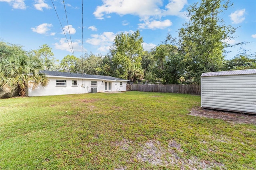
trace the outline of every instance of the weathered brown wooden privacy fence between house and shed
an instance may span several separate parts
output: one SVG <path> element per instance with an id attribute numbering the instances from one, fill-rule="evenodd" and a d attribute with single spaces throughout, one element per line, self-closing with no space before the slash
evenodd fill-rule
<path id="1" fill-rule="evenodd" d="M 200 95 L 200 85 L 127 85 L 127 90 L 130 91 L 147 91 L 147 92 L 160 92 L 160 93 L 183 93 Z"/>

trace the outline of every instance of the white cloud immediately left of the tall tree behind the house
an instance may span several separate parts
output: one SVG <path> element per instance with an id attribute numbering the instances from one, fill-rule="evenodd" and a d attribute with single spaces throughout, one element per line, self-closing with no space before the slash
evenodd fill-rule
<path id="1" fill-rule="evenodd" d="M 108 49 L 112 45 L 113 40 L 116 37 L 116 34 L 114 34 L 113 32 L 104 32 L 102 34 L 92 34 L 91 37 L 92 38 L 89 38 L 86 40 L 86 43 L 89 43 L 95 46 L 100 45 L 98 50 L 105 52 L 105 51 L 108 51 Z"/>

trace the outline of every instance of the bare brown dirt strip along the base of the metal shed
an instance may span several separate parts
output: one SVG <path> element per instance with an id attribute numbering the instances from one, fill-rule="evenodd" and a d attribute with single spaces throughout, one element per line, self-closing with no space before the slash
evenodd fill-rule
<path id="1" fill-rule="evenodd" d="M 194 108 L 191 109 L 191 116 L 207 117 L 212 119 L 222 119 L 231 123 L 246 123 L 256 125 L 256 115 L 244 113 L 224 112 L 210 109 Z"/>

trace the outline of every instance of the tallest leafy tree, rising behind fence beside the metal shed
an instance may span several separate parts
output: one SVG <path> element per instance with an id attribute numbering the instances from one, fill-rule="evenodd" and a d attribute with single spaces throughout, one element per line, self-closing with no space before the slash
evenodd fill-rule
<path id="1" fill-rule="evenodd" d="M 179 30 L 182 62 L 191 83 L 200 83 L 202 72 L 220 71 L 224 61 L 225 40 L 232 39 L 235 28 L 226 26 L 220 14 L 229 1 L 202 0 L 188 8 L 189 22 Z"/>

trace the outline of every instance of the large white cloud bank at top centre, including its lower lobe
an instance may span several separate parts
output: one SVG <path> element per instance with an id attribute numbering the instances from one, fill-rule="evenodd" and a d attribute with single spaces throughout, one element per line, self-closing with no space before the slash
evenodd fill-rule
<path id="1" fill-rule="evenodd" d="M 188 4 L 187 0 L 169 0 L 163 8 L 162 0 L 104 0 L 102 6 L 97 6 L 94 16 L 98 19 L 108 17 L 108 14 L 116 13 L 120 16 L 130 14 L 140 17 L 139 28 L 164 29 L 172 25 L 170 20 L 161 21 L 162 16 L 179 16 L 186 18 L 186 12 L 182 11 Z M 124 26 L 128 22 L 123 21 Z"/>

